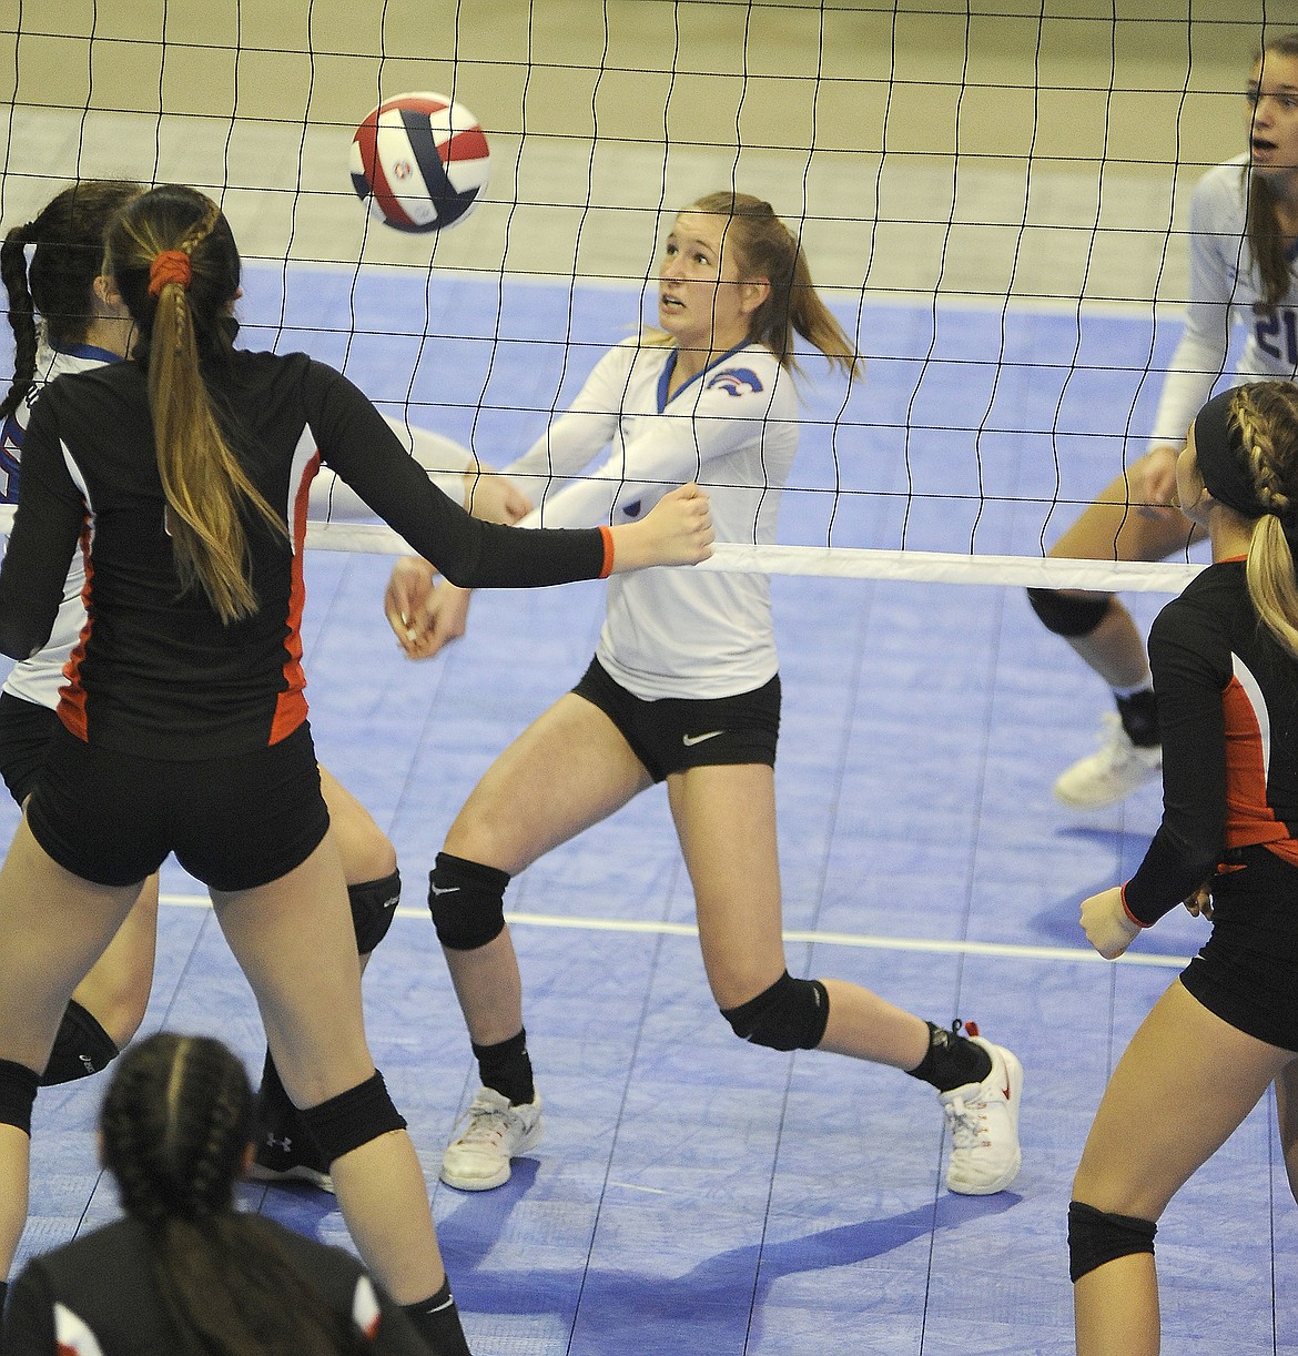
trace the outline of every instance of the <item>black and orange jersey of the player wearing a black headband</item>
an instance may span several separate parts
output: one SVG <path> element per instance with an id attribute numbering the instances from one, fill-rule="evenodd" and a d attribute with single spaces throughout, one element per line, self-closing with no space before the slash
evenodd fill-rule
<path id="1" fill-rule="evenodd" d="M 1298 660 L 1257 620 L 1242 560 L 1210 565 L 1149 635 L 1162 730 L 1162 823 L 1123 887 L 1152 923 L 1233 848 L 1298 866 Z"/>

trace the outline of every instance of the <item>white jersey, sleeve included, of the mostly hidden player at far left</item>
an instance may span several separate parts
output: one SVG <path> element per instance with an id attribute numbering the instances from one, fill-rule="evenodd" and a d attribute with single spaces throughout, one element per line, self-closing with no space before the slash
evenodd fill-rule
<path id="1" fill-rule="evenodd" d="M 121 358 L 107 348 L 92 344 L 76 344 L 65 351 L 41 346 L 37 354 L 35 385 L 18 410 L 0 427 L 0 503 L 18 503 L 19 464 L 22 461 L 23 434 L 31 416 L 33 401 L 41 386 L 71 372 L 88 372 L 106 362 L 119 362 Z M 450 438 L 415 428 L 399 419 L 388 419 L 388 424 L 401 439 L 429 473 L 429 479 L 456 503 L 464 502 L 464 472 L 476 465 L 472 453 Z M 328 468 L 312 480 L 307 509 L 308 517 L 330 522 L 377 522 L 373 510 L 361 496 Z M 85 565 L 81 552 L 75 552 L 64 598 L 58 606 L 54 629 L 49 644 L 30 659 L 16 663 L 4 682 L 4 690 L 23 701 L 38 706 L 58 706 L 58 690 L 64 686 L 64 664 L 72 656 L 72 650 L 85 625 Z"/>

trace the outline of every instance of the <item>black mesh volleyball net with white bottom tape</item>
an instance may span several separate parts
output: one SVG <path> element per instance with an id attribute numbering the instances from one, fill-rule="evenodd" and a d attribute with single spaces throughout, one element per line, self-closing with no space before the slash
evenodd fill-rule
<path id="1" fill-rule="evenodd" d="M 1145 450 L 1189 191 L 1242 149 L 1248 62 L 1276 22 L 1265 0 L 1189 14 L 16 0 L 0 226 L 77 178 L 193 183 L 244 254 L 251 346 L 332 362 L 502 465 L 640 323 L 675 210 L 751 193 L 799 235 L 865 378 L 799 354 L 781 542 L 709 568 L 1169 591 L 1185 560 L 1043 557 Z M 349 178 L 358 123 L 412 89 L 471 108 L 491 148 L 473 213 L 433 235 L 376 221 Z M 309 542 L 404 549 L 355 523 Z"/>

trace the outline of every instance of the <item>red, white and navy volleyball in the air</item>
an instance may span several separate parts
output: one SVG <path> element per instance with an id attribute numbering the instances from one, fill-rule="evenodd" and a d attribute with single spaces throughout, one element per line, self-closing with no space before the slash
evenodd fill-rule
<path id="1" fill-rule="evenodd" d="M 444 231 L 487 187 L 491 152 L 477 119 L 442 94 L 384 99 L 351 138 L 351 183 L 396 231 Z"/>

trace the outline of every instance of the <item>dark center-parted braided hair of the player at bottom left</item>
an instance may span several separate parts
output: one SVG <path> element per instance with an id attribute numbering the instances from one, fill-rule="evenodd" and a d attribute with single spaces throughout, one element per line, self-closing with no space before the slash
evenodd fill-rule
<path id="1" fill-rule="evenodd" d="M 254 1134 L 243 1064 L 218 1040 L 160 1032 L 121 1056 L 99 1130 L 123 1211 L 148 1239 L 152 1279 L 186 1351 L 354 1356 L 365 1351 L 274 1229 L 235 1210 Z"/>

